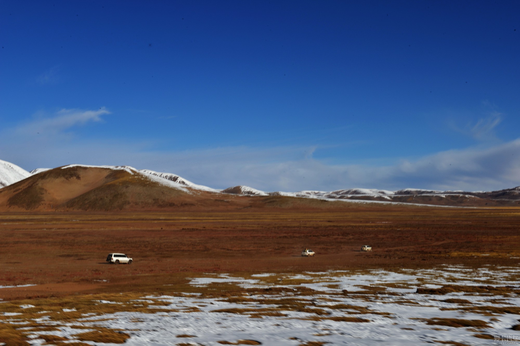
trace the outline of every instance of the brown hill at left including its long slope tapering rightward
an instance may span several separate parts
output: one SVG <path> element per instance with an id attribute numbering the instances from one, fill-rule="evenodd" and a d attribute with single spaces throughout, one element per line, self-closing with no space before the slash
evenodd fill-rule
<path id="1" fill-rule="evenodd" d="M 350 208 L 352 203 L 243 196 L 168 185 L 130 167 L 58 167 L 0 189 L 0 211 Z M 175 183 L 173 183 L 175 184 Z M 177 188 L 176 188 L 177 187 Z"/>

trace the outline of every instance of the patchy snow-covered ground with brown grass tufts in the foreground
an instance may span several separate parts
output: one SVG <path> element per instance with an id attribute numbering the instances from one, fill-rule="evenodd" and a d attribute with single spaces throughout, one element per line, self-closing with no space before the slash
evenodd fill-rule
<path id="1" fill-rule="evenodd" d="M 297 275 L 258 273 L 247 277 L 206 274 L 193 277 L 190 285 L 199 289 L 206 287 L 210 294 L 150 295 L 133 300 L 134 304 L 161 302 L 163 305 L 157 307 L 161 311 L 157 313 L 83 314 L 68 322 L 54 321 L 45 312 L 40 313 L 36 319 L 26 322 L 55 325 L 59 330 L 29 332 L 30 343 L 45 344 L 40 337 L 45 333 L 72 341 L 74 334 L 100 327 L 129 335 L 127 345 L 156 346 L 442 345 L 456 342 L 491 345 L 495 343 L 493 336 L 505 342 L 520 340 L 520 331 L 511 329 L 519 324 L 520 318 L 520 268 L 517 267 L 443 266 L 428 270 Z M 212 296 L 211 291 L 222 285 L 238 287 L 241 294 Z M 447 285 L 457 289 L 446 294 L 417 291 Z M 472 291 L 473 288 L 476 291 Z M 119 302 L 98 300 L 96 304 Z M 11 313 L 8 321 L 20 323 L 20 317 Z M 453 318 L 456 320 L 447 320 Z M 79 331 L 77 326 L 87 329 Z"/>

